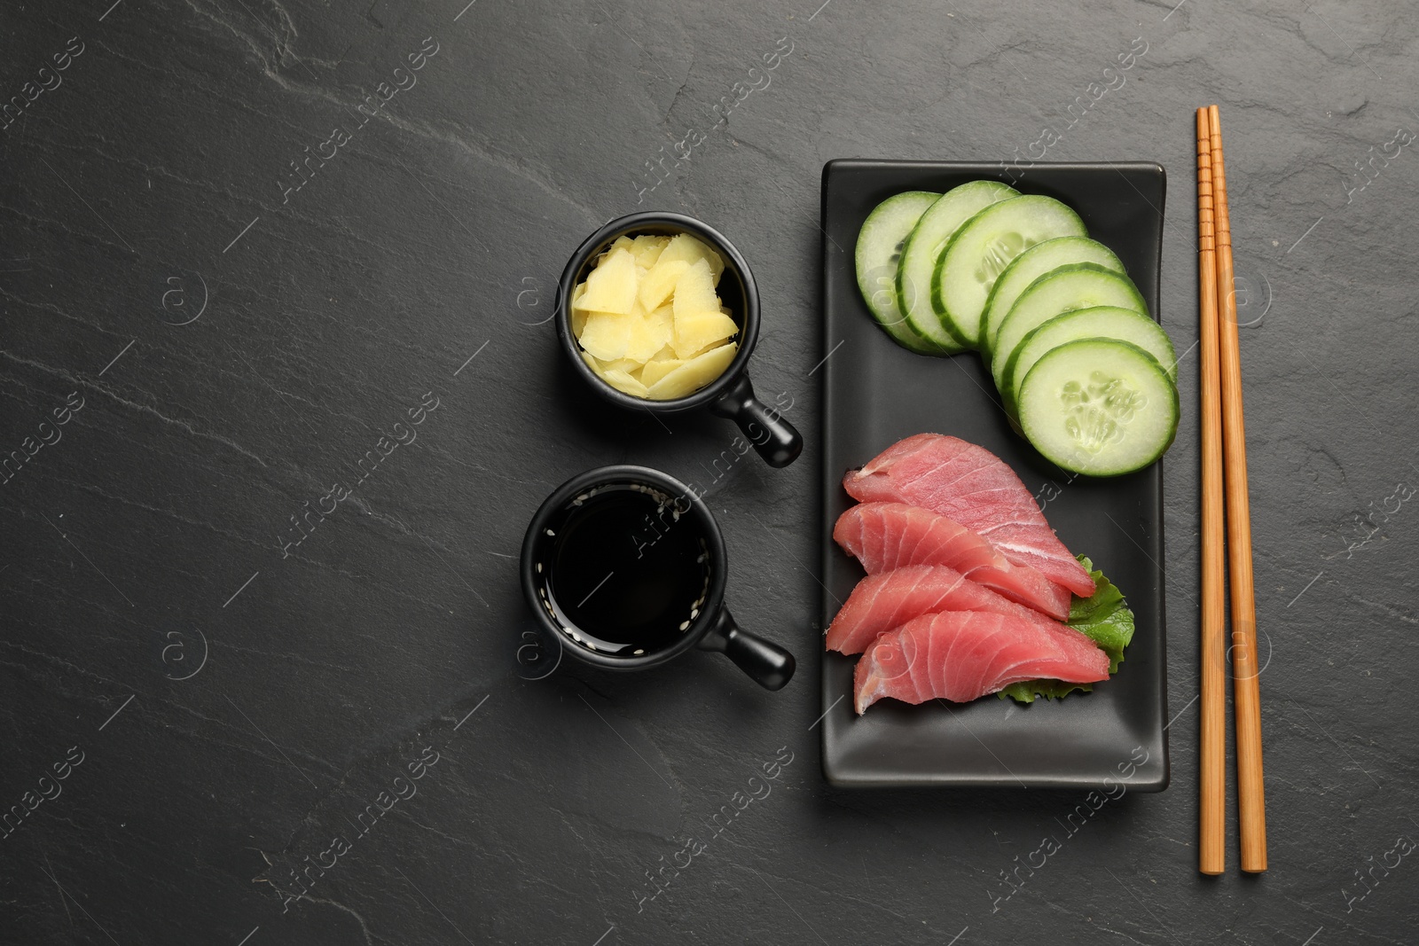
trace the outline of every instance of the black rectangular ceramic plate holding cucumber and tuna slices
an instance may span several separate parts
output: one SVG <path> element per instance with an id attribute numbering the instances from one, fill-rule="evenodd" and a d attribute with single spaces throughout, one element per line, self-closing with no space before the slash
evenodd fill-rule
<path id="1" fill-rule="evenodd" d="M 1161 166 L 1034 165 L 1019 180 L 1005 170 L 1000 163 L 856 159 L 823 167 L 823 627 L 863 577 L 833 543 L 833 523 L 851 502 L 843 474 L 902 437 L 929 431 L 981 444 L 1037 496 L 1049 498 L 1054 484 L 1059 495 L 1047 501 L 1046 518 L 1071 552 L 1088 555 L 1124 591 L 1137 631 L 1118 674 L 1093 694 L 1029 706 L 996 696 L 920 706 L 887 699 L 857 716 L 857 657 L 824 654 L 823 774 L 836 786 L 1032 789 L 1103 786 L 1127 774 L 1130 789 L 1161 791 L 1168 787 L 1162 465 L 1067 482 L 1010 431 L 976 355 L 912 355 L 877 328 L 857 289 L 853 250 L 873 207 L 904 190 L 945 193 L 988 177 L 1073 207 L 1088 234 L 1118 254 L 1158 318 Z"/>

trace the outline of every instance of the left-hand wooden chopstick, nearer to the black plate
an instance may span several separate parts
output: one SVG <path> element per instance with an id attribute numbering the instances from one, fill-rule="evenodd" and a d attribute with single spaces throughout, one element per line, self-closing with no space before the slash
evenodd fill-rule
<path id="1" fill-rule="evenodd" d="M 1218 272 L 1212 230 L 1212 130 L 1198 109 L 1198 347 L 1202 407 L 1202 745 L 1198 869 L 1226 867 L 1226 549 L 1222 505 L 1222 380 Z"/>

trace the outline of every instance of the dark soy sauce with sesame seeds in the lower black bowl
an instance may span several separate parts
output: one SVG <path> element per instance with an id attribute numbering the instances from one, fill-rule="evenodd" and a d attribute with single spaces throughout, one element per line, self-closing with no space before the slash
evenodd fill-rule
<path id="1" fill-rule="evenodd" d="M 710 587 L 710 552 L 685 498 L 600 486 L 549 526 L 552 607 L 583 647 L 639 657 L 671 647 Z"/>

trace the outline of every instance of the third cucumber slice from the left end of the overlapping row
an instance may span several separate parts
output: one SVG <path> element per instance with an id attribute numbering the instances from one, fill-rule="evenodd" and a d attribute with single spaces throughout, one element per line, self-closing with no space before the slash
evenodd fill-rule
<path id="1" fill-rule="evenodd" d="M 1053 197 L 1029 194 L 990 204 L 956 231 L 937 264 L 931 292 L 945 312 L 942 325 L 978 347 L 981 313 L 1000 272 L 1037 243 L 1087 235 L 1078 214 Z"/>

